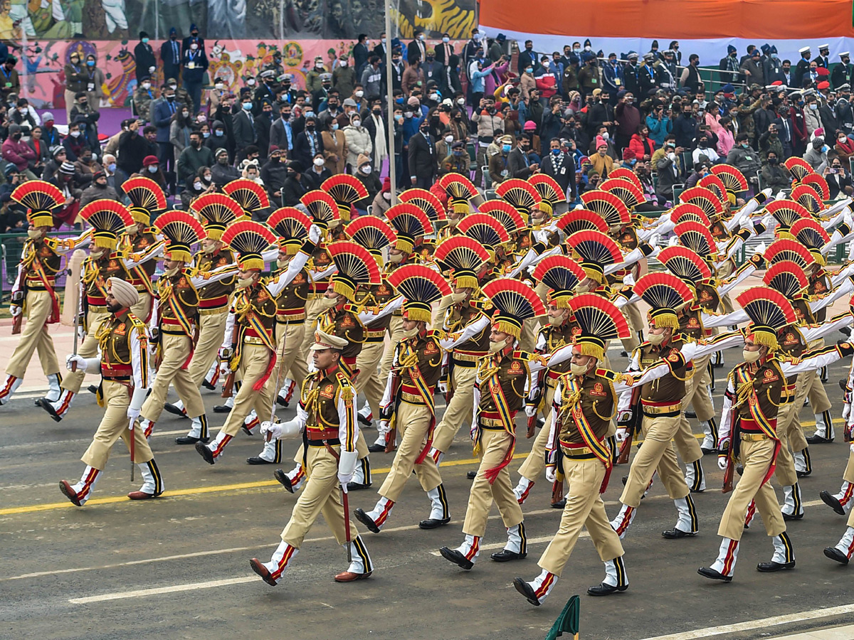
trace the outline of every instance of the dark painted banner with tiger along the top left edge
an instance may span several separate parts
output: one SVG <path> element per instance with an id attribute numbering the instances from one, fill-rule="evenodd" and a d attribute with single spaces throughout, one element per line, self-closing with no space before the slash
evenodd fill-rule
<path id="1" fill-rule="evenodd" d="M 476 0 L 394 0 L 393 36 L 412 38 L 415 29 L 438 38 L 468 38 L 476 26 Z M 0 39 L 134 41 L 140 31 L 152 40 L 189 35 L 195 24 L 203 38 L 355 39 L 377 38 L 385 29 L 384 0 L 0 0 Z"/>

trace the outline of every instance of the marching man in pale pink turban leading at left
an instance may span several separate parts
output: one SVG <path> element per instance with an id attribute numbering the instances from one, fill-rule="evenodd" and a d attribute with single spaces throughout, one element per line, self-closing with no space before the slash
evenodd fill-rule
<path id="1" fill-rule="evenodd" d="M 85 358 L 75 354 L 67 358 L 69 370 L 73 366 L 83 372 L 100 369 L 103 399 L 99 404 L 107 408 L 92 444 L 80 458 L 86 468 L 79 482 L 72 485 L 61 480 L 59 483 L 60 491 L 78 507 L 91 497 L 118 439 L 122 439 L 132 452 L 132 463 L 138 465 L 143 475 L 143 486 L 139 491 L 128 493 L 127 497 L 146 500 L 163 492 L 160 469 L 137 423 L 140 407 L 149 392 L 148 330 L 130 311 L 139 301 L 139 293 L 132 284 L 115 277 L 108 280 L 107 287 L 110 315 L 93 328 L 99 355 Z"/>

